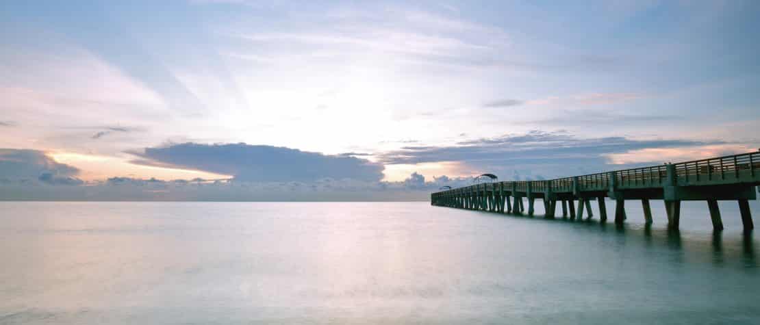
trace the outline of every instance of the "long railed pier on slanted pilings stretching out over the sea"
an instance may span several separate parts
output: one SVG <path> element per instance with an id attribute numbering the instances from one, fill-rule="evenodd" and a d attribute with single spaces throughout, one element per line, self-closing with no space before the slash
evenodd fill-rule
<path id="1" fill-rule="evenodd" d="M 559 205 L 563 217 L 578 220 L 584 219 L 584 213 L 587 219 L 593 216 L 591 202 L 596 201 L 600 221 L 606 222 L 604 199 L 609 197 L 615 204 L 616 224 L 625 220 L 625 201 L 637 200 L 648 225 L 652 223 L 650 201 L 663 200 L 670 229 L 679 228 L 681 201 L 704 200 L 717 231 L 723 230 L 717 201 L 735 200 L 744 230 L 750 231 L 754 225 L 749 200 L 757 198 L 757 185 L 760 152 L 753 152 L 543 181 L 492 181 L 435 192 L 430 200 L 439 207 L 533 216 L 540 199 L 546 218 L 555 218 Z"/>

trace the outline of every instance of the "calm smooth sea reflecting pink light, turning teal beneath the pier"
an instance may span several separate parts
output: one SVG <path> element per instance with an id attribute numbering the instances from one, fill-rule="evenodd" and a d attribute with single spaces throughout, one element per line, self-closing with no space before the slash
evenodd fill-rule
<path id="1" fill-rule="evenodd" d="M 0 324 L 760 323 L 736 203 L 722 235 L 704 202 L 679 233 L 652 204 L 651 229 L 633 201 L 618 229 L 426 202 L 0 202 Z"/>

